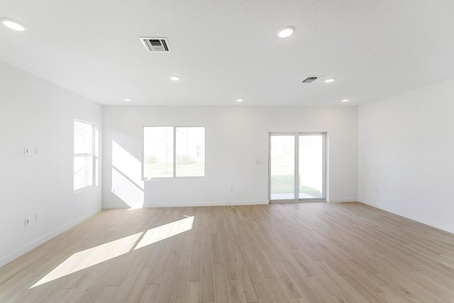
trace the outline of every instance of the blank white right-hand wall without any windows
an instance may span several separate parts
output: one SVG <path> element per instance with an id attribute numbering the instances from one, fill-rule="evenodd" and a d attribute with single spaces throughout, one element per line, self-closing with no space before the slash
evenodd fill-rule
<path id="1" fill-rule="evenodd" d="M 454 233 L 454 79 L 359 108 L 358 198 Z"/>

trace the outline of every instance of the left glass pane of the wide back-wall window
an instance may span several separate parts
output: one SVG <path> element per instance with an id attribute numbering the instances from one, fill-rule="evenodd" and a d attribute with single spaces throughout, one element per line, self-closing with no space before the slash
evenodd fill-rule
<path id="1" fill-rule="evenodd" d="M 143 128 L 143 177 L 173 177 L 173 127 Z"/>

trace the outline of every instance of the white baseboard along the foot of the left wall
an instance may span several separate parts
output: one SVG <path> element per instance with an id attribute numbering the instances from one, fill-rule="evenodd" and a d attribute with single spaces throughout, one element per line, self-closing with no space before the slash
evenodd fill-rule
<path id="1" fill-rule="evenodd" d="M 77 217 L 76 219 L 70 221 L 69 223 L 67 223 L 63 226 L 60 226 L 59 228 L 55 229 L 54 231 L 51 231 L 50 233 L 45 234 L 44 236 L 36 239 L 35 241 L 28 243 L 26 246 L 23 246 L 23 247 L 19 248 L 18 250 L 13 251 L 9 255 L 6 255 L 4 258 L 0 259 L 0 267 L 3 265 L 6 265 L 7 263 L 10 263 L 12 260 L 20 257 L 24 253 L 28 253 L 28 251 L 40 246 L 45 241 L 48 241 L 51 238 L 54 238 L 55 236 L 59 235 L 63 231 L 66 231 L 67 229 L 71 228 L 72 226 L 79 224 L 80 222 L 89 218 L 89 216 L 93 216 L 98 211 L 101 211 L 101 209 L 102 208 L 93 209 L 92 211 L 89 211 L 86 214 L 83 214 L 82 216 Z"/>

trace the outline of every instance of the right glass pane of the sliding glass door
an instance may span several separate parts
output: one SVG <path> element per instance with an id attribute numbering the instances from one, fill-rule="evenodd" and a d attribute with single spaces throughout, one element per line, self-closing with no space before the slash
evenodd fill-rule
<path id="1" fill-rule="evenodd" d="M 299 199 L 323 197 L 323 136 L 299 136 Z"/>

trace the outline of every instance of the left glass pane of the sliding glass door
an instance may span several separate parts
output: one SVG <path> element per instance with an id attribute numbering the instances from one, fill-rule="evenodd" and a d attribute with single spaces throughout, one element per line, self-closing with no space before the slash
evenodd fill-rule
<path id="1" fill-rule="evenodd" d="M 271 199 L 295 199 L 295 136 L 271 136 Z"/>

